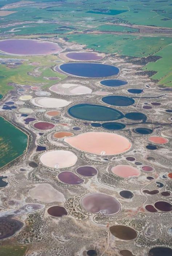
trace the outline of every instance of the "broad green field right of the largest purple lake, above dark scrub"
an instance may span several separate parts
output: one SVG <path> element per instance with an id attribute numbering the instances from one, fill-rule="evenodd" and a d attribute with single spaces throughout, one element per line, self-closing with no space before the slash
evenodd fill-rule
<path id="1" fill-rule="evenodd" d="M 131 35 L 113 34 L 71 34 L 67 35 L 71 42 L 87 45 L 86 48 L 105 53 L 118 53 L 120 55 L 147 57 L 154 54 L 168 44 L 171 37 L 136 37 Z"/>

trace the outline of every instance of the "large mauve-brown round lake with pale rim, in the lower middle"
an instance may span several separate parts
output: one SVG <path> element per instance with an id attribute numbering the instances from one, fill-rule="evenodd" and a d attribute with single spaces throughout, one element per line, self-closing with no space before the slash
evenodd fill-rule
<path id="1" fill-rule="evenodd" d="M 103 193 L 89 193 L 81 198 L 81 205 L 93 214 L 114 215 L 121 210 L 116 198 Z"/>

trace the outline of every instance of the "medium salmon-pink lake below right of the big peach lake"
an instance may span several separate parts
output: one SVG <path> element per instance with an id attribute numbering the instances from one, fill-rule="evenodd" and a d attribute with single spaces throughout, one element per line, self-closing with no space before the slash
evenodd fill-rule
<path id="1" fill-rule="evenodd" d="M 126 165 L 126 164 L 119 164 L 119 165 L 113 166 L 111 168 L 111 171 L 114 174 L 116 174 L 120 177 L 123 177 L 123 178 L 140 175 L 140 171 L 138 170 L 138 168 L 133 167 L 131 165 Z"/>

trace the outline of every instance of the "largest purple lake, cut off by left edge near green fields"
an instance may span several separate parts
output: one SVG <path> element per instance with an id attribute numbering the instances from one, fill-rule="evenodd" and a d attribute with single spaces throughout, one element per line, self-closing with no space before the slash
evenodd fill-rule
<path id="1" fill-rule="evenodd" d="M 48 55 L 61 51 L 61 47 L 54 43 L 32 39 L 0 40 L 0 51 L 17 55 Z"/>

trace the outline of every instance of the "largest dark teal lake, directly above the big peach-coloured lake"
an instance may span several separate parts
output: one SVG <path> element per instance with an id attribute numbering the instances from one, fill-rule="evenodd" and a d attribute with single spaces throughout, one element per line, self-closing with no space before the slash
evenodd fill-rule
<path id="1" fill-rule="evenodd" d="M 111 107 L 93 104 L 78 104 L 70 107 L 68 113 L 75 118 L 87 121 L 114 121 L 124 117 L 124 114 Z"/>

